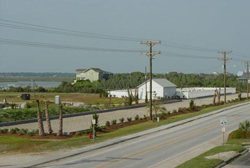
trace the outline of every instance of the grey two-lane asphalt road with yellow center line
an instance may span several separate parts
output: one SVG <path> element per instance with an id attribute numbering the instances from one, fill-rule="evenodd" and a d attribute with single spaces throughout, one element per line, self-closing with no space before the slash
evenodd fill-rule
<path id="1" fill-rule="evenodd" d="M 221 117 L 227 117 L 226 132 L 238 128 L 239 122 L 250 120 L 250 105 L 224 111 L 168 130 L 150 134 L 108 148 L 84 153 L 39 167 L 60 168 L 151 168 L 175 167 L 178 158 L 195 157 L 195 148 L 217 139 L 222 142 Z M 220 142 L 220 143 L 221 143 Z M 178 165 L 177 164 L 177 165 Z"/>

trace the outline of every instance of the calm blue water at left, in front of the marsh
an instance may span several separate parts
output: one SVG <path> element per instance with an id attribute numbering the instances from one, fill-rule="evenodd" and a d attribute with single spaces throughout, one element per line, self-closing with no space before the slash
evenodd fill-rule
<path id="1" fill-rule="evenodd" d="M 36 87 L 38 86 L 42 86 L 42 87 L 45 87 L 45 88 L 48 88 L 48 87 L 57 87 L 61 84 L 61 82 L 39 82 L 39 81 L 36 81 L 35 82 L 35 85 Z M 0 82 L 0 88 L 3 88 L 3 89 L 8 89 L 10 86 L 13 86 L 13 87 L 26 87 L 26 86 L 30 86 L 31 88 L 33 88 L 34 86 L 34 83 L 32 81 L 18 81 L 18 82 Z"/>

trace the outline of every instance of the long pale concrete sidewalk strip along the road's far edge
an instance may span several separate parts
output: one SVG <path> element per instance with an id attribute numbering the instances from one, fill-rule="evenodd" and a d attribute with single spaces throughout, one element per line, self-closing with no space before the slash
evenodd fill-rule
<path id="1" fill-rule="evenodd" d="M 119 143 L 122 143 L 122 142 L 125 142 L 125 141 L 128 141 L 128 140 L 139 138 L 139 137 L 142 137 L 142 136 L 145 136 L 145 135 L 149 135 L 149 134 L 152 134 L 152 133 L 156 133 L 156 132 L 167 130 L 167 129 L 170 129 L 170 128 L 173 128 L 173 127 L 177 127 L 179 125 L 183 125 L 183 124 L 186 124 L 186 123 L 198 120 L 198 119 L 202 119 L 202 118 L 205 118 L 205 117 L 208 117 L 208 116 L 211 116 L 211 115 L 222 113 L 222 112 L 224 112 L 226 110 L 234 109 L 234 108 L 249 105 L 249 104 L 250 103 L 247 102 L 247 103 L 243 103 L 243 104 L 234 105 L 234 106 L 231 106 L 231 107 L 226 107 L 226 108 L 223 108 L 223 109 L 220 109 L 220 110 L 216 110 L 214 112 L 210 112 L 208 114 L 202 114 L 200 116 L 196 116 L 196 117 L 193 117 L 193 118 L 189 118 L 189 119 L 174 122 L 174 123 L 171 123 L 171 124 L 163 125 L 163 126 L 160 126 L 160 127 L 150 129 L 150 130 L 143 131 L 143 132 L 139 132 L 139 133 L 123 136 L 123 137 L 118 137 L 118 138 L 107 140 L 107 141 L 100 142 L 100 143 L 97 143 L 97 144 L 89 145 L 89 146 L 86 146 L 86 147 L 83 147 L 83 148 L 80 148 L 80 149 L 77 149 L 77 150 L 73 150 L 73 151 L 70 151 L 70 152 L 65 152 L 63 154 L 60 154 L 60 155 L 57 155 L 57 156 L 54 156 L 54 157 L 48 157 L 48 158 L 46 157 L 46 158 L 40 159 L 38 161 L 34 161 L 34 162 L 31 162 L 31 163 L 26 163 L 26 164 L 20 165 L 20 167 L 29 168 L 29 167 L 38 166 L 38 165 L 41 165 L 41 164 L 57 161 L 57 160 L 60 160 L 60 159 L 65 159 L 65 158 L 68 158 L 68 157 L 76 156 L 76 155 L 83 154 L 83 153 L 86 153 L 86 152 L 89 152 L 89 151 L 105 148 L 105 147 L 112 146 L 112 145 L 115 145 L 115 144 L 119 144 Z"/>

